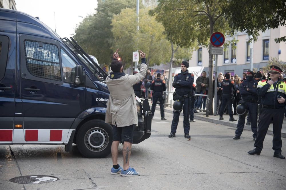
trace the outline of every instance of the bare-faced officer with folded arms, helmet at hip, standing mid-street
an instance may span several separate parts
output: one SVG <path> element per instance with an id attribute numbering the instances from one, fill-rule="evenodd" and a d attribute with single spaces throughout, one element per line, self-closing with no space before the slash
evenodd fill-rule
<path id="1" fill-rule="evenodd" d="M 180 101 L 183 103 L 184 113 L 184 137 L 191 138 L 189 135 L 190 121 L 189 121 L 189 106 L 190 106 L 190 91 L 194 82 L 194 75 L 188 72 L 189 64 L 186 61 L 181 63 L 181 72 L 174 77 L 173 87 L 176 88 L 175 97 L 181 97 Z M 175 100 L 176 101 L 176 100 Z M 174 110 L 173 110 L 174 111 Z M 174 111 L 172 120 L 171 133 L 169 137 L 176 136 L 176 130 L 179 122 L 180 111 Z"/>

